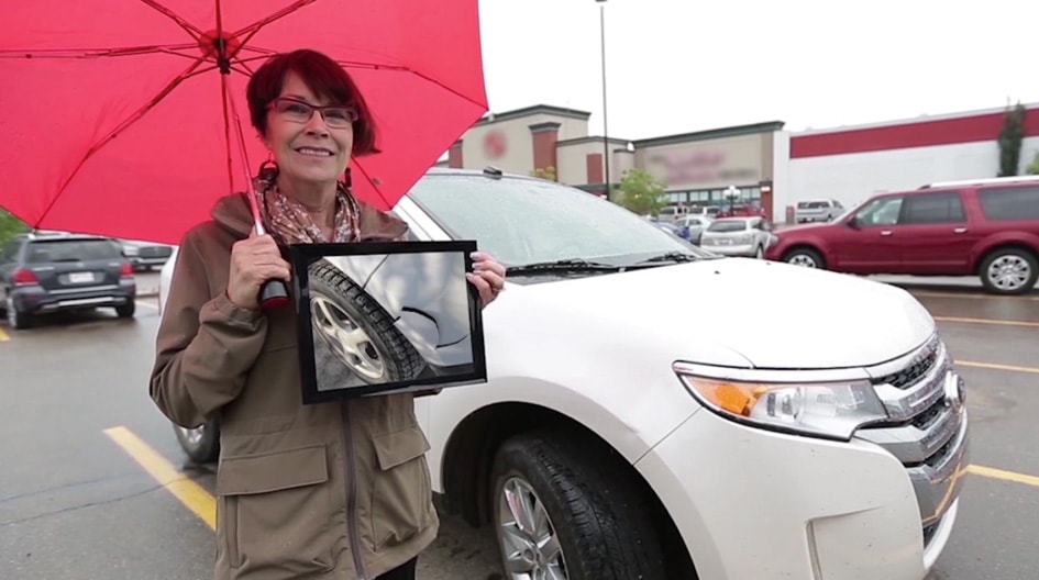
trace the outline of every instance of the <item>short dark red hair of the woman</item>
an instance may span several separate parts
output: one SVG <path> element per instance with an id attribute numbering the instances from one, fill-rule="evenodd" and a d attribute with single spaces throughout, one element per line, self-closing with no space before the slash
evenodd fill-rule
<path id="1" fill-rule="evenodd" d="M 289 71 L 299 75 L 318 97 L 357 110 L 357 120 L 354 121 L 354 146 L 351 152 L 353 155 L 378 153 L 372 111 L 364 102 L 354 80 L 339 63 L 309 48 L 270 57 L 248 79 L 245 98 L 248 100 L 253 126 L 261 135 L 267 134 L 267 105 L 281 94 L 281 86 Z"/>

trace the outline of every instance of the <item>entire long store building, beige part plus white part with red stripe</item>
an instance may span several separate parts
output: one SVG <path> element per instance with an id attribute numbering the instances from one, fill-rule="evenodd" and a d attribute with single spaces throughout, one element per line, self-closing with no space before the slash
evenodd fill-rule
<path id="1" fill-rule="evenodd" d="M 783 222 L 800 200 L 837 199 L 848 207 L 878 191 L 995 177 L 1004 114 L 1001 108 L 796 133 L 771 121 L 604 143 L 588 134 L 590 113 L 538 104 L 485 115 L 441 165 L 553 171 L 563 183 L 603 196 L 608 148 L 610 183 L 639 168 L 664 185 L 672 203 L 734 199 L 760 203 Z M 1039 103 L 1027 105 L 1025 134 L 1021 172 L 1039 152 Z"/>

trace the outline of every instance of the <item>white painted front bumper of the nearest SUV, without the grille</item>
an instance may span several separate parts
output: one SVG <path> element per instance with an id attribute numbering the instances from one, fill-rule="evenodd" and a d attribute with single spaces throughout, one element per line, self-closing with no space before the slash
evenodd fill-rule
<path id="1" fill-rule="evenodd" d="M 922 580 L 957 516 L 925 533 L 905 467 L 862 440 L 738 425 L 701 411 L 638 462 L 700 578 Z"/>

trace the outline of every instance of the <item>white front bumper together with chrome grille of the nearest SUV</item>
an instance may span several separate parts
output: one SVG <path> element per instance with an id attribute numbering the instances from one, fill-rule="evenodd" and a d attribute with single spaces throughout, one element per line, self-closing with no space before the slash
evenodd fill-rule
<path id="1" fill-rule="evenodd" d="M 969 461 L 962 381 L 940 341 L 867 369 L 889 424 L 850 442 L 695 413 L 637 466 L 700 578 L 922 580 Z"/>

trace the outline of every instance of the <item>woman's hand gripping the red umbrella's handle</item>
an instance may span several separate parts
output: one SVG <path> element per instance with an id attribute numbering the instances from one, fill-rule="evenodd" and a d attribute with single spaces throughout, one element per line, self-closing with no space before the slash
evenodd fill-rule
<path id="1" fill-rule="evenodd" d="M 239 308 L 259 310 L 259 289 L 264 282 L 277 278 L 288 283 L 290 271 L 274 238 L 253 232 L 231 246 L 228 298 Z"/>

